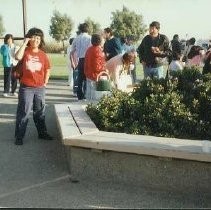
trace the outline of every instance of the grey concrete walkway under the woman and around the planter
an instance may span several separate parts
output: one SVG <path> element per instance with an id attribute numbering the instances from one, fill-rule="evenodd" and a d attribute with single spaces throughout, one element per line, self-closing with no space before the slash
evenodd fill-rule
<path id="1" fill-rule="evenodd" d="M 0 80 L 0 90 L 3 81 Z M 69 180 L 53 104 L 76 102 L 64 81 L 50 81 L 46 121 L 54 141 L 37 138 L 30 118 L 23 146 L 14 145 L 17 98 L 0 96 L 0 208 L 209 208 L 204 192 L 154 191 L 118 183 Z"/>

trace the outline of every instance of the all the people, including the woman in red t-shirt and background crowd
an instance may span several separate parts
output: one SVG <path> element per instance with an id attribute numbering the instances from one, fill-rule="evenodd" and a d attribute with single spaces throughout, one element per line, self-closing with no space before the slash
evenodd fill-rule
<path id="1" fill-rule="evenodd" d="M 99 75 L 105 73 L 113 86 L 121 89 L 123 76 L 130 76 L 136 82 L 136 57 L 143 65 L 144 78 L 164 77 L 164 65 L 168 59 L 170 71 L 182 70 L 184 65 L 199 65 L 204 61 L 203 73 L 211 72 L 211 48 L 206 53 L 195 46 L 195 39 L 182 52 L 179 37 L 171 43 L 160 34 L 160 23 L 153 21 L 146 35 L 136 49 L 130 36 L 121 40 L 113 35 L 111 28 L 103 33 L 89 35 L 88 25 L 80 24 L 76 38 L 70 39 L 68 47 L 69 82 L 78 100 L 94 99 Z M 44 34 L 39 28 L 31 28 L 23 44 L 14 45 L 13 36 L 7 34 L 1 46 L 4 66 L 4 93 L 16 95 L 17 78 L 12 76 L 13 68 L 21 63 L 21 78 L 16 113 L 15 144 L 22 145 L 31 109 L 38 131 L 38 138 L 53 140 L 45 123 L 45 88 L 50 76 L 50 61 L 44 52 Z M 198 57 L 197 57 L 198 56 Z"/>

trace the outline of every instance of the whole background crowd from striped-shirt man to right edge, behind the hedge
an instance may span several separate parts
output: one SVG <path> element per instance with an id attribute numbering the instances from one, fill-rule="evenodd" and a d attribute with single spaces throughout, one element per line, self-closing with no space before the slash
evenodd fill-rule
<path id="1" fill-rule="evenodd" d="M 117 89 L 124 89 L 122 84 L 126 83 L 125 78 L 128 76 L 131 84 L 136 83 L 137 56 L 143 66 L 144 78 L 165 77 L 166 65 L 170 74 L 173 74 L 185 66 L 210 63 L 208 60 L 211 55 L 208 53 L 205 56 L 203 48 L 195 45 L 195 38 L 188 40 L 183 51 L 179 36 L 175 34 L 170 42 L 166 35 L 160 33 L 158 21 L 150 23 L 149 34 L 142 39 L 138 48 L 134 46 L 131 36 L 119 39 L 113 35 L 111 28 L 92 35 L 89 35 L 88 31 L 86 23 L 80 24 L 77 37 L 71 39 L 71 49 L 68 48 L 72 78 L 72 72 L 77 71 L 77 82 L 73 79 L 73 90 L 78 100 L 94 99 L 98 75 L 101 72 L 109 75 Z"/>

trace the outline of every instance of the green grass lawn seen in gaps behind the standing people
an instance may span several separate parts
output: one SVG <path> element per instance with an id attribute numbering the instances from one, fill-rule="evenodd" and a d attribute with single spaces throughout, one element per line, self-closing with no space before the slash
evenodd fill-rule
<path id="1" fill-rule="evenodd" d="M 67 57 L 64 54 L 48 54 L 52 69 L 51 69 L 51 79 L 67 79 L 68 69 L 67 69 Z M 143 69 L 137 59 L 137 79 L 143 78 Z M 0 56 L 0 77 L 3 78 L 3 67 L 2 67 L 2 56 Z"/>

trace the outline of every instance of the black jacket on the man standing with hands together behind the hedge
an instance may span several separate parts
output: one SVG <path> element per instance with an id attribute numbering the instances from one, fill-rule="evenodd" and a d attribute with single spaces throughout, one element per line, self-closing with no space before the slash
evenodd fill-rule
<path id="1" fill-rule="evenodd" d="M 151 47 L 159 47 L 162 54 L 154 54 Z M 163 35 L 159 34 L 156 38 L 152 38 L 147 35 L 143 38 L 141 44 L 137 49 L 140 62 L 145 62 L 147 66 L 158 67 L 162 66 L 165 57 L 171 56 L 171 50 L 169 48 L 169 40 Z"/>

